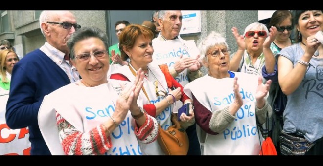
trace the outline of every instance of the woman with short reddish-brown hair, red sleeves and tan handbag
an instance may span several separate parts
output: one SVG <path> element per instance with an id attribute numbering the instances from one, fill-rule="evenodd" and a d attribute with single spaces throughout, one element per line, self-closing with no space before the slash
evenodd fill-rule
<path id="1" fill-rule="evenodd" d="M 183 86 L 178 83 L 169 72 L 163 73 L 157 65 L 152 65 L 152 47 L 154 34 L 151 29 L 142 25 L 131 24 L 125 27 L 119 38 L 119 47 L 122 48 L 121 58 L 127 60 L 128 65 L 122 66 L 111 74 L 111 79 L 134 82 L 136 72 L 144 71 L 144 83 L 140 92 L 143 98 L 143 108 L 147 113 L 156 118 L 163 129 L 171 125 L 171 113 L 174 103 L 181 100 L 189 104 L 189 116 L 180 115 L 181 125 L 188 127 L 195 123 L 192 100 L 183 92 Z M 163 68 L 168 70 L 168 67 Z M 172 86 L 169 86 L 172 84 Z M 171 90 L 173 88 L 173 90 Z M 140 145 L 143 154 L 164 155 L 157 141 L 149 145 Z"/>

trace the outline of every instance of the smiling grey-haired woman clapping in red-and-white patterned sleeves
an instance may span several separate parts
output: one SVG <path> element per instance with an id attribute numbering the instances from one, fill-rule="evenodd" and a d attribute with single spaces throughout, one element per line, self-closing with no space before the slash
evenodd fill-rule
<path id="1" fill-rule="evenodd" d="M 46 95 L 38 122 L 53 155 L 141 155 L 139 143 L 157 139 L 158 124 L 138 96 L 143 72 L 133 83 L 107 79 L 108 38 L 95 27 L 76 31 L 70 58 L 82 79 Z M 128 84 L 128 85 L 127 85 Z"/>

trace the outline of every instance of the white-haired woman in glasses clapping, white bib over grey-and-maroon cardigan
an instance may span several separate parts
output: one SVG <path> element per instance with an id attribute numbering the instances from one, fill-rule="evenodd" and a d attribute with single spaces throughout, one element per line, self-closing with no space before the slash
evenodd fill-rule
<path id="1" fill-rule="evenodd" d="M 184 92 L 193 99 L 202 154 L 259 155 L 256 115 L 263 124 L 272 112 L 265 100 L 271 81 L 229 71 L 229 47 L 218 33 L 202 40 L 199 50 L 208 75 L 186 84 Z"/>

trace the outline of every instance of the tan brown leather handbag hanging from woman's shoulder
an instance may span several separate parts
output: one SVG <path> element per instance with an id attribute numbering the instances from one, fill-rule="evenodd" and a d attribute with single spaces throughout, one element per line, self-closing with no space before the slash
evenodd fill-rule
<path id="1" fill-rule="evenodd" d="M 159 145 L 166 155 L 186 155 L 188 152 L 188 136 L 174 113 L 171 114 L 172 125 L 164 130 L 159 125 L 157 138 Z"/>

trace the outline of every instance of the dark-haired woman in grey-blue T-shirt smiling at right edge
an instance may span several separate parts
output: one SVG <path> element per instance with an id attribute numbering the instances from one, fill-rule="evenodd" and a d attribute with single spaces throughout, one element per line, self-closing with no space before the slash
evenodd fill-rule
<path id="1" fill-rule="evenodd" d="M 277 53 L 278 82 L 288 98 L 280 150 L 284 155 L 323 155 L 323 45 L 315 37 L 323 31 L 323 11 L 291 13 L 296 44 Z M 286 142 L 287 137 L 293 140 Z"/>

